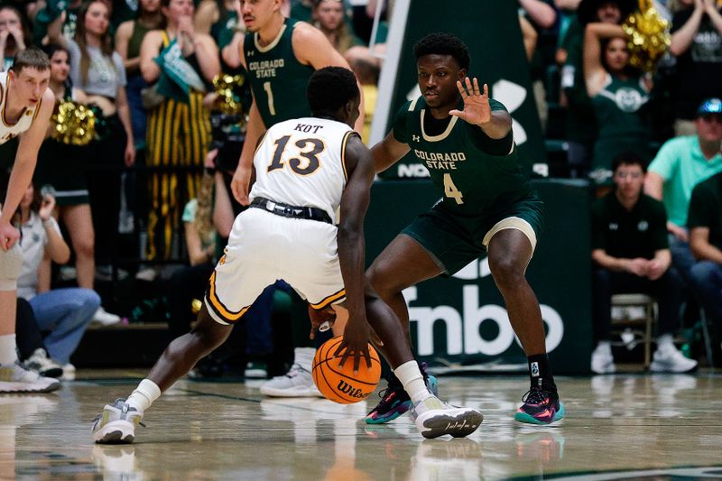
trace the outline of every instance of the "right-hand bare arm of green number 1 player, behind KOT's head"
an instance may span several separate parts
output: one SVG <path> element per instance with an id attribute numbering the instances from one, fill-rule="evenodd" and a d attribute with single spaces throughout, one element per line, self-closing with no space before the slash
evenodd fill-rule
<path id="1" fill-rule="evenodd" d="M 293 43 L 293 53 L 296 58 L 304 64 L 310 65 L 314 69 L 322 69 L 324 67 L 343 67 L 351 69 L 346 59 L 333 48 L 329 39 L 326 38 L 319 29 L 309 23 L 300 22 L 293 29 L 291 37 Z M 361 106 L 359 107 L 361 115 L 356 119 L 354 130 L 361 133 L 364 128 L 364 89 L 356 80 L 358 91 L 361 92 Z"/>

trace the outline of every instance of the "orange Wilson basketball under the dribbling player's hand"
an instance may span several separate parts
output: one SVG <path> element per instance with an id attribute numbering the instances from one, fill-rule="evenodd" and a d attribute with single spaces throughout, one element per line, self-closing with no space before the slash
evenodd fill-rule
<path id="1" fill-rule="evenodd" d="M 326 399 L 352 404 L 366 399 L 373 393 L 381 378 L 381 360 L 375 348 L 368 345 L 371 367 L 366 366 L 366 358 L 361 357 L 358 374 L 354 374 L 354 359 L 348 356 L 343 367 L 339 366 L 341 356 L 334 356 L 342 336 L 332 338 L 316 350 L 313 358 L 313 382 Z"/>

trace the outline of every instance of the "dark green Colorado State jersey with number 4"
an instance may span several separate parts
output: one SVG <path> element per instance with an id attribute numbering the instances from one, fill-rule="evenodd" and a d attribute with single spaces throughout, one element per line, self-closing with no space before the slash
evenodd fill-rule
<path id="1" fill-rule="evenodd" d="M 489 104 L 492 110 L 506 110 L 494 99 L 489 99 Z M 462 107 L 460 103 L 458 108 Z M 495 141 L 477 125 L 452 116 L 443 133 L 427 135 L 423 122 L 424 116 L 430 115 L 423 97 L 407 102 L 396 115 L 393 137 L 407 143 L 411 153 L 426 166 L 431 181 L 443 193 L 443 207 L 450 213 L 486 216 L 532 196 L 511 132 L 506 139 Z M 484 145 L 492 143 L 496 150 L 499 143 L 504 144 L 504 153 L 490 153 L 494 149 Z"/>

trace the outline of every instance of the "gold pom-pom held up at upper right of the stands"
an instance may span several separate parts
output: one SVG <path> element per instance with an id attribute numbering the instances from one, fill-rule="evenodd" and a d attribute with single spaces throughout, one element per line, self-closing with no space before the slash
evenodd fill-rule
<path id="1" fill-rule="evenodd" d="M 622 24 L 629 42 L 629 64 L 646 72 L 653 71 L 670 47 L 670 24 L 652 5 L 652 0 L 639 0 L 639 12 L 629 15 Z"/>

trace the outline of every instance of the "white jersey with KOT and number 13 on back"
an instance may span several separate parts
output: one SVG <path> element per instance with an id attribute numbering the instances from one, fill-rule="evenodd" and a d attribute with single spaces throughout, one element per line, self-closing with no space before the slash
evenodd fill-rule
<path id="1" fill-rule="evenodd" d="M 318 117 L 273 125 L 255 151 L 250 199 L 322 208 L 336 224 L 347 181 L 346 143 L 355 134 L 342 122 Z"/>

